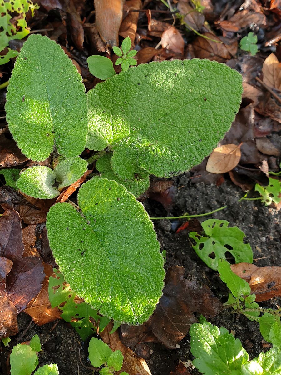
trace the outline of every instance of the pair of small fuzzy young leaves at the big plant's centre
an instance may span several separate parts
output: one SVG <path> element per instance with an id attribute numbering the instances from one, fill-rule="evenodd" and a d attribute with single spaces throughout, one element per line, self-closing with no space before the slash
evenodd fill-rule
<path id="1" fill-rule="evenodd" d="M 79 156 L 62 160 L 52 170 L 48 166 L 32 166 L 24 169 L 16 181 L 16 187 L 23 193 L 40 199 L 52 199 L 60 191 L 77 181 L 86 171 L 88 163 Z M 55 180 L 58 187 L 54 186 Z"/>

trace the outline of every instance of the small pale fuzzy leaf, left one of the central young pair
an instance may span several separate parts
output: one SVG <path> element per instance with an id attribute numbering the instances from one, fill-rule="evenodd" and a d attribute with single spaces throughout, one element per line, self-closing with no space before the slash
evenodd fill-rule
<path id="1" fill-rule="evenodd" d="M 24 194 L 33 198 L 52 199 L 60 193 L 53 187 L 55 172 L 48 166 L 36 165 L 24 169 L 16 181 L 16 186 Z"/>

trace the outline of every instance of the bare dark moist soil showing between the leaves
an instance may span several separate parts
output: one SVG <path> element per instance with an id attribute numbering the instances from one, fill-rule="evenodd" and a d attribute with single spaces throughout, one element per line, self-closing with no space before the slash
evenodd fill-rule
<path id="1" fill-rule="evenodd" d="M 215 210 L 227 205 L 225 210 L 219 211 L 211 216 L 200 217 L 199 221 L 214 218 L 224 219 L 230 225 L 237 225 L 246 234 L 246 240 L 251 244 L 254 252 L 254 264 L 257 266 L 280 266 L 281 265 L 281 230 L 280 213 L 270 207 L 265 207 L 260 201 L 241 201 L 244 193 L 233 184 L 226 182 L 221 186 L 205 185 L 204 183 L 193 184 L 189 174 L 181 175 L 175 180 L 175 199 L 170 216 L 180 216 L 185 212 L 189 214 L 200 214 Z M 166 216 L 166 211 L 158 202 L 148 200 L 144 202 L 146 210 L 151 217 Z M 215 296 L 222 302 L 227 299 L 227 288 L 220 281 L 218 273 L 209 269 L 195 254 L 188 239 L 187 231 L 175 233 L 178 221 L 155 220 L 155 230 L 161 248 L 167 254 L 166 267 L 184 266 L 185 278 L 197 280 L 207 284 Z M 231 259 L 230 259 L 231 261 Z M 261 306 L 270 308 L 280 305 L 280 300 L 274 299 Z M 262 351 L 262 336 L 259 333 L 257 323 L 250 322 L 247 318 L 237 317 L 227 310 L 210 320 L 212 324 L 224 326 L 239 338 L 244 348 L 253 358 Z M 14 339 L 22 336 L 22 333 L 30 323 L 30 317 L 20 314 L 18 317 L 19 333 Z M 83 345 L 78 334 L 64 321 L 59 321 L 57 326 L 54 323 L 45 326 L 35 326 L 24 334 L 20 342 L 32 338 L 38 334 L 42 343 L 42 352 L 39 354 L 39 365 L 46 363 L 57 363 L 60 375 L 90 375 L 91 370 L 83 368 L 79 360 L 78 348 L 81 351 L 81 359 L 84 365 L 90 366 L 87 362 L 87 344 Z M 13 342 L 11 344 L 13 344 Z M 11 347 L 11 345 L 10 345 Z M 151 344 L 151 359 L 148 366 L 152 374 L 166 375 L 175 369 L 179 360 L 188 362 L 193 357 L 190 353 L 190 338 L 187 335 L 180 343 L 178 350 L 167 350 L 163 345 Z M 191 375 L 199 372 L 194 369 Z"/>

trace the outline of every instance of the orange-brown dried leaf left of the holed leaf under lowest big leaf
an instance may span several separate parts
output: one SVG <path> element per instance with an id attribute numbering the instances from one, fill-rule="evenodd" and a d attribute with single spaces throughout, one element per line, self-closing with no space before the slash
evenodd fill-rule
<path id="1" fill-rule="evenodd" d="M 34 323 L 42 326 L 46 323 L 51 323 L 54 320 L 61 319 L 62 310 L 57 307 L 52 309 L 49 301 L 48 285 L 49 277 L 53 275 L 53 266 L 43 263 L 45 279 L 42 284 L 42 289 L 37 296 L 28 303 L 24 312 L 33 319 Z"/>

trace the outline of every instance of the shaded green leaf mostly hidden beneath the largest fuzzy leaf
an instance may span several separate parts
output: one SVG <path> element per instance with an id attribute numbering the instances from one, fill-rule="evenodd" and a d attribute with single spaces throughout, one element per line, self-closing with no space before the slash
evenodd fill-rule
<path id="1" fill-rule="evenodd" d="M 140 171 L 134 180 L 121 180 L 111 168 L 111 157 L 112 153 L 106 153 L 97 160 L 96 168 L 100 172 L 100 176 L 123 184 L 136 198 L 141 196 L 149 188 L 148 172 Z"/>

